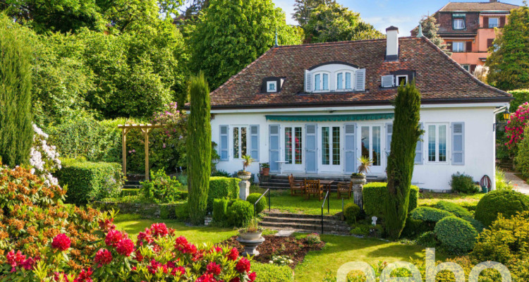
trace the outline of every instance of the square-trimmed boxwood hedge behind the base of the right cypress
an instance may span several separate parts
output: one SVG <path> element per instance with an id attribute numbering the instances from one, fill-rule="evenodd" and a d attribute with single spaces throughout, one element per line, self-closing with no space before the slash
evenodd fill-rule
<path id="1" fill-rule="evenodd" d="M 387 197 L 387 183 L 372 182 L 364 185 L 362 195 L 364 201 L 365 214 L 369 216 L 384 216 L 384 199 Z M 419 188 L 411 185 L 410 203 L 408 205 L 408 212 L 411 212 L 417 207 L 419 197 Z"/>

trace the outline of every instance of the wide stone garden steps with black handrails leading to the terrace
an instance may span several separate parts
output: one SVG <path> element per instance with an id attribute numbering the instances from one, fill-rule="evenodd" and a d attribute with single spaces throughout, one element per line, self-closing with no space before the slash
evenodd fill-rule
<path id="1" fill-rule="evenodd" d="M 310 214 L 265 213 L 260 226 L 272 230 L 291 230 L 303 233 L 322 233 L 322 216 Z M 336 216 L 323 216 L 323 233 L 349 235 L 351 228 Z"/>

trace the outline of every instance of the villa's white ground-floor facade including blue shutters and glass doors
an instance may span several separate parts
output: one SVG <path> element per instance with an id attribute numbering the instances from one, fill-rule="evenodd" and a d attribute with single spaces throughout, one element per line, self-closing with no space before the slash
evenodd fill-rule
<path id="1" fill-rule="evenodd" d="M 425 129 L 425 135 L 422 137 L 422 145 L 419 145 L 417 150 L 413 184 L 429 190 L 450 190 L 451 175 L 461 172 L 472 176 L 476 181 L 482 176 L 490 176 L 494 185 L 494 112 L 503 106 L 506 104 L 422 105 L 420 123 Z M 267 116 L 389 113 L 393 113 L 391 106 L 212 110 L 212 141 L 217 143 L 217 151 L 223 157 L 217 168 L 229 173 L 239 171 L 243 168 L 241 156 L 244 153 L 252 154 L 257 161 L 248 170 L 257 174 L 259 164 L 269 163 L 271 155 L 276 153 L 273 157 L 276 158 L 274 162 L 277 166 L 281 165 L 279 168 L 283 173 L 348 176 L 353 172 L 351 167 L 358 166 L 356 159 L 360 157 L 364 148 L 363 154 L 369 154 L 369 157 L 378 163 L 372 167 L 368 176 L 385 178 L 391 119 L 273 121 L 267 120 Z M 273 126 L 272 130 L 279 129 L 276 135 L 274 133 L 271 135 L 270 125 Z M 308 128 L 307 125 L 311 127 Z M 454 125 L 457 126 L 456 131 Z M 316 129 L 315 135 L 308 135 L 307 130 L 312 129 Z M 325 135 L 327 138 L 324 138 Z M 271 136 L 278 137 L 279 140 L 276 142 Z M 291 138 L 287 139 L 288 136 Z M 274 142 L 272 149 L 271 142 Z M 308 142 L 316 143 L 314 151 L 311 150 L 314 144 Z M 288 150 L 289 147 L 292 151 Z M 314 154 L 317 156 L 316 171 L 312 171 L 312 168 L 309 169 L 307 166 L 310 163 L 308 154 L 312 157 Z M 274 171 L 272 168 L 271 173 L 274 172 L 279 171 Z"/>

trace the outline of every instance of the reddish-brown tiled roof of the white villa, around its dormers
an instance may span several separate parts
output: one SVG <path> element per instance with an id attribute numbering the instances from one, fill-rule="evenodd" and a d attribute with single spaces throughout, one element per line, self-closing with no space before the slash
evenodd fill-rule
<path id="1" fill-rule="evenodd" d="M 386 39 L 303 44 L 269 49 L 211 93 L 213 108 L 284 106 L 352 106 L 389 104 L 396 88 L 381 88 L 382 75 L 416 72 L 422 101 L 430 103 L 509 101 L 511 94 L 480 82 L 430 40 L 399 38 L 398 61 L 386 62 Z M 366 69 L 365 92 L 304 92 L 305 70 L 320 63 L 343 61 Z M 261 93 L 262 79 L 285 78 L 279 93 Z"/>

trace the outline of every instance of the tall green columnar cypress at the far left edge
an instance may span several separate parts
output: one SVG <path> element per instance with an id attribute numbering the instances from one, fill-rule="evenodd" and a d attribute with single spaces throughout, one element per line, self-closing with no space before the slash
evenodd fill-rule
<path id="1" fill-rule="evenodd" d="M 0 26 L 0 159 L 28 164 L 33 142 L 31 44 L 13 25 Z"/>

